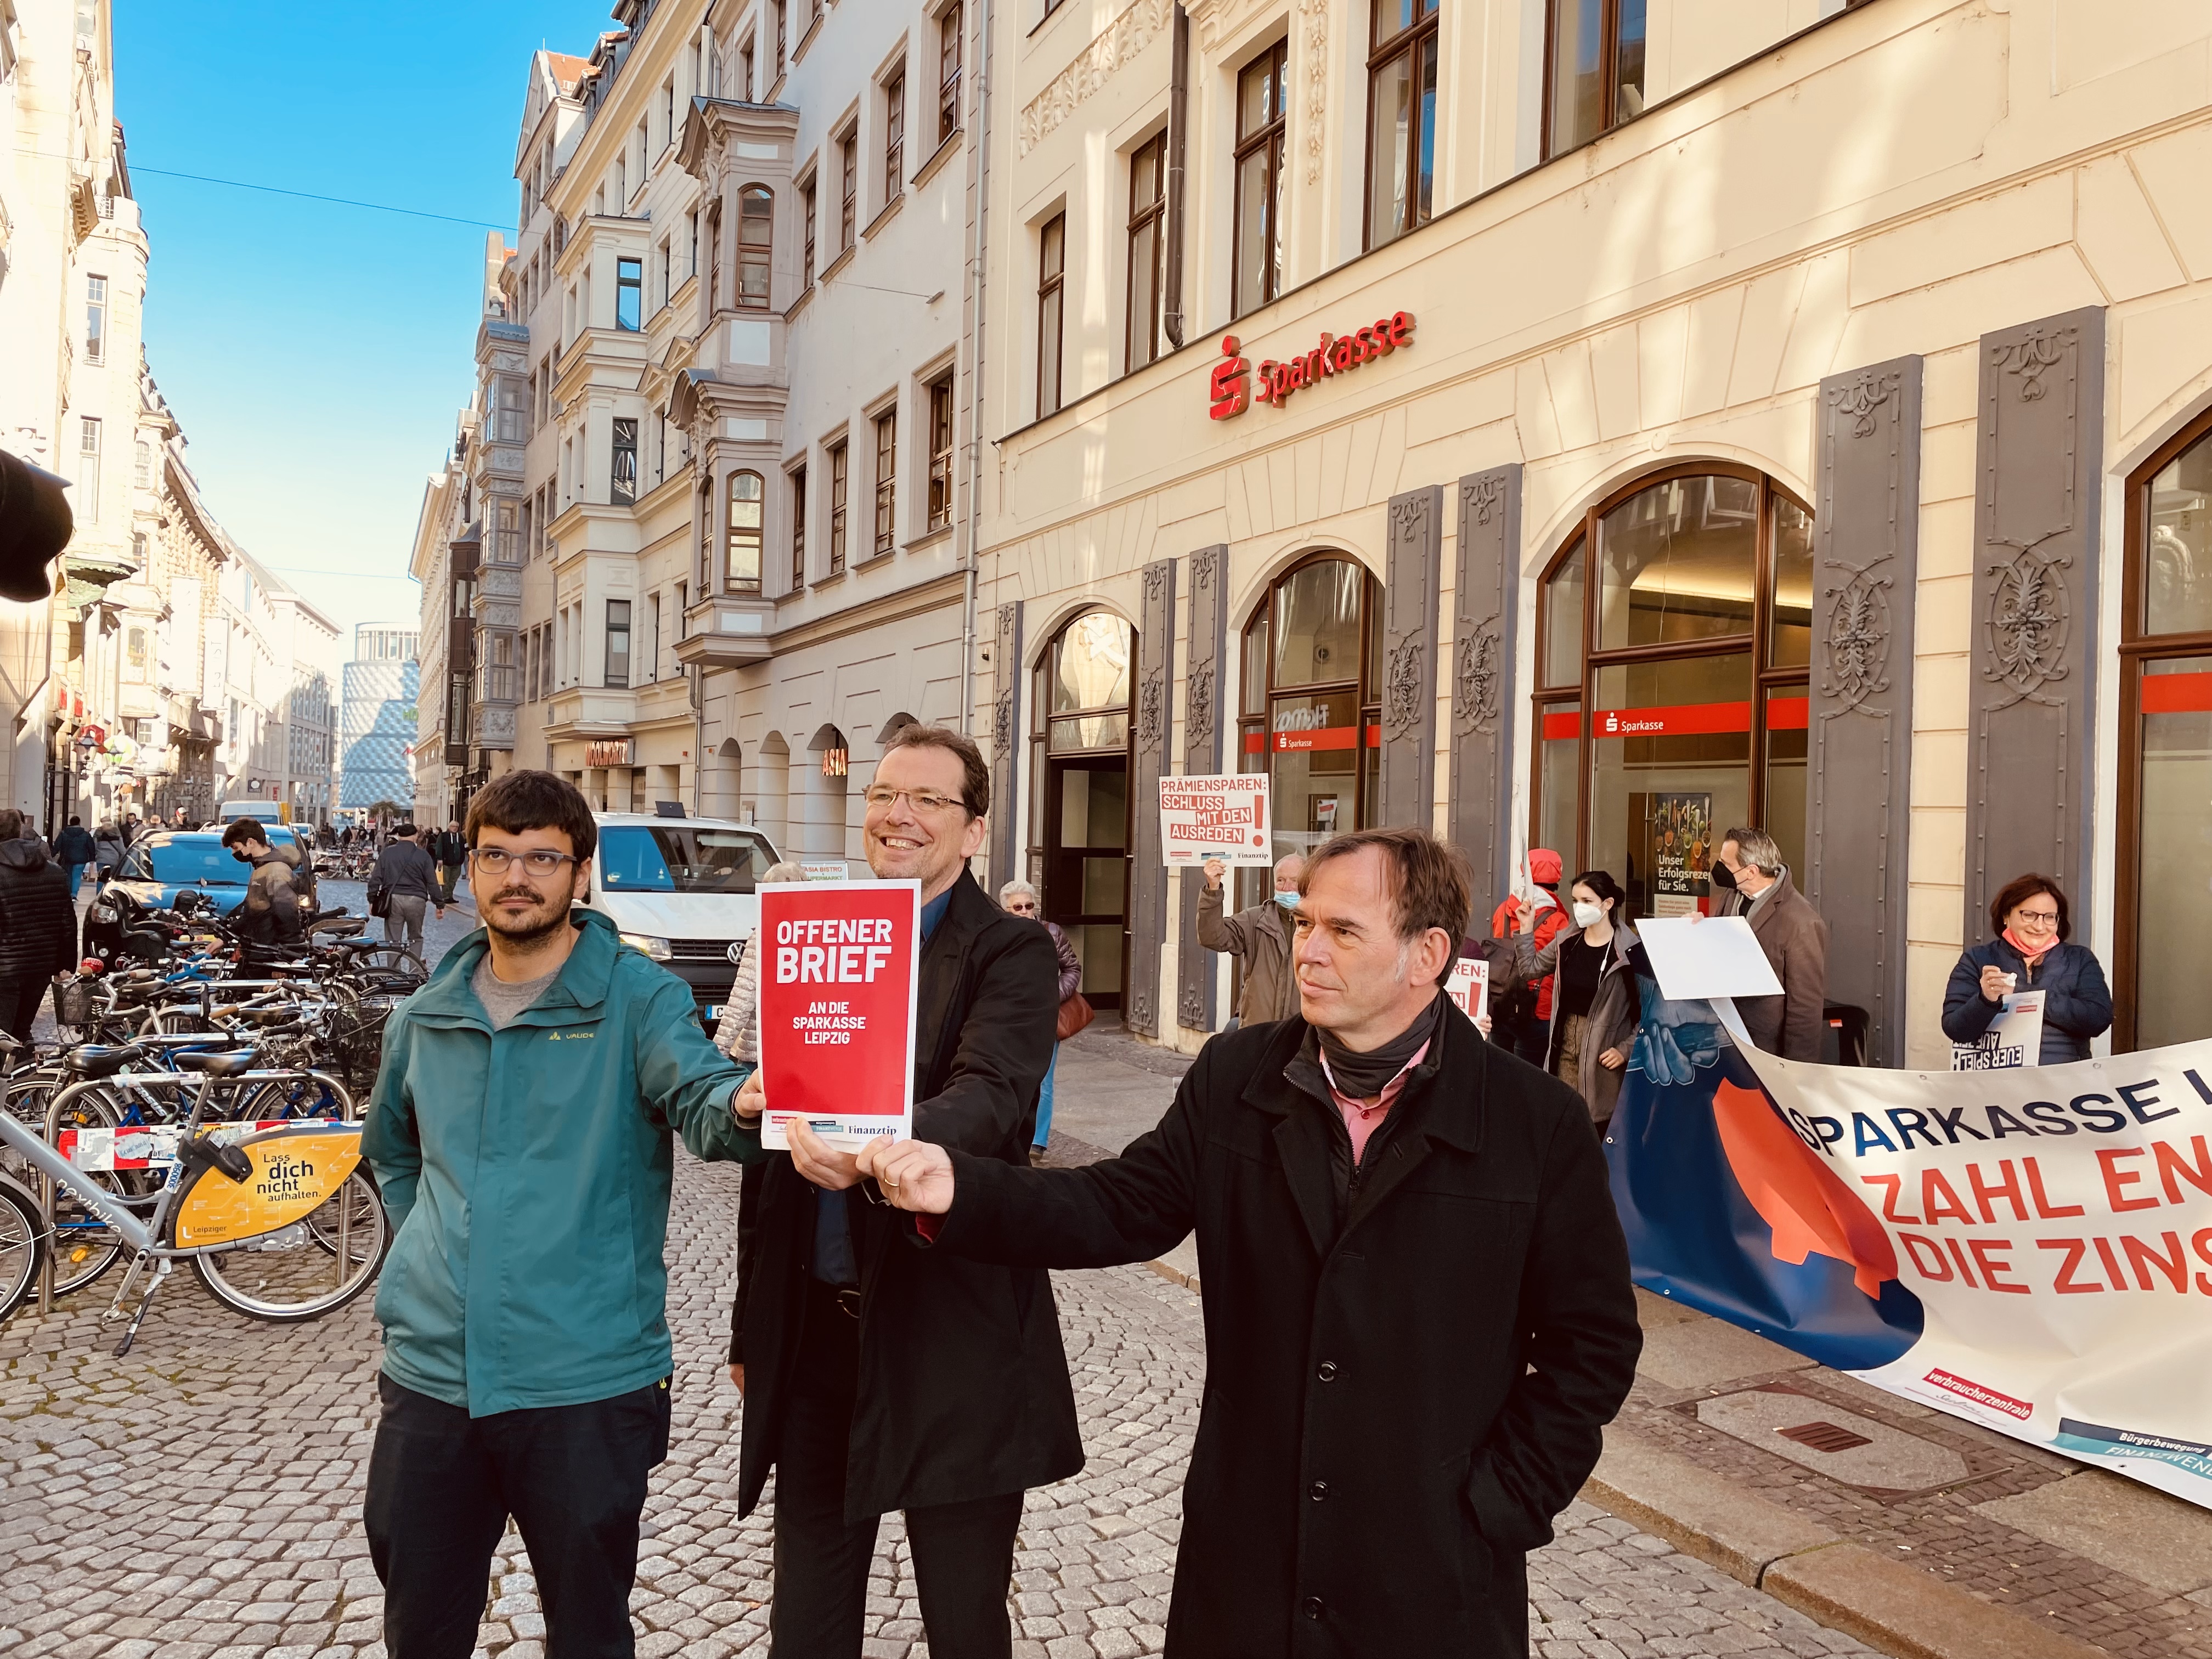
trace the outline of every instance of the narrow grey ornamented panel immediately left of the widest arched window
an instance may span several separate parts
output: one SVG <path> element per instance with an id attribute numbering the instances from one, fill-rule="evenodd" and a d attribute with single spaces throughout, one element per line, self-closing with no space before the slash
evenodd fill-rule
<path id="1" fill-rule="evenodd" d="M 1475 918 L 1513 885 L 1513 602 L 1520 593 L 1515 460 L 1460 480 L 1451 591 L 1451 841 L 1475 874 Z M 1469 918 L 1469 931 L 1480 931 Z"/>

